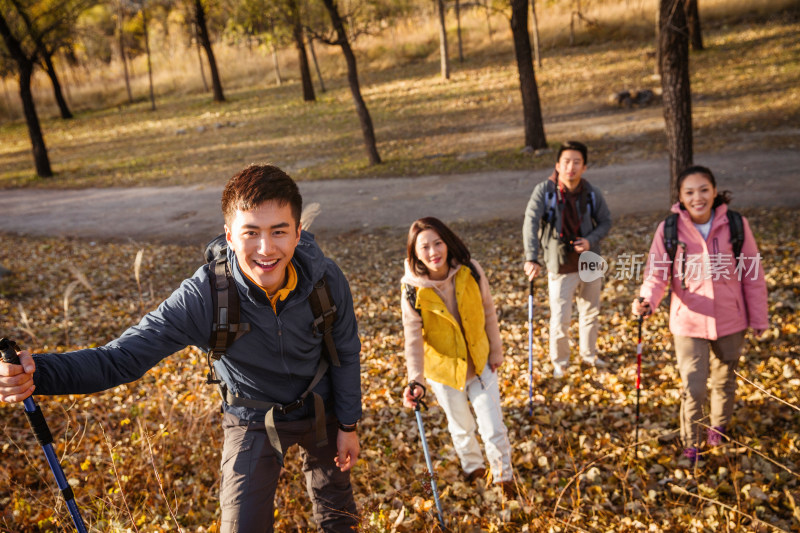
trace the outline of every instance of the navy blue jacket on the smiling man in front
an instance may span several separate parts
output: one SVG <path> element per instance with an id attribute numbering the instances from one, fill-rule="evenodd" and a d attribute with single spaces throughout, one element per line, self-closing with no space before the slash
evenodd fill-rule
<path id="1" fill-rule="evenodd" d="M 314 388 L 343 424 L 361 418 L 361 342 L 350 286 L 342 271 L 322 254 L 313 235 L 302 232 L 292 264 L 297 287 L 272 310 L 261 289 L 242 275 L 236 257 L 228 260 L 241 300 L 241 322 L 250 332 L 237 340 L 215 363 L 217 376 L 237 396 L 281 404 L 291 403 L 306 390 L 322 357 L 322 337 L 312 334 L 314 316 L 308 303 L 313 285 L 323 275 L 337 308 L 333 339 L 340 367 L 330 367 Z M 106 390 L 142 377 L 165 357 L 185 348 L 208 349 L 213 303 L 209 266 L 203 265 L 183 281 L 155 311 L 105 346 L 63 354 L 38 354 L 36 394 L 85 394 Z M 209 390 L 211 393 L 211 390 Z M 276 420 L 313 416 L 313 401 Z M 263 411 L 225 405 L 226 412 L 258 420 Z"/>

